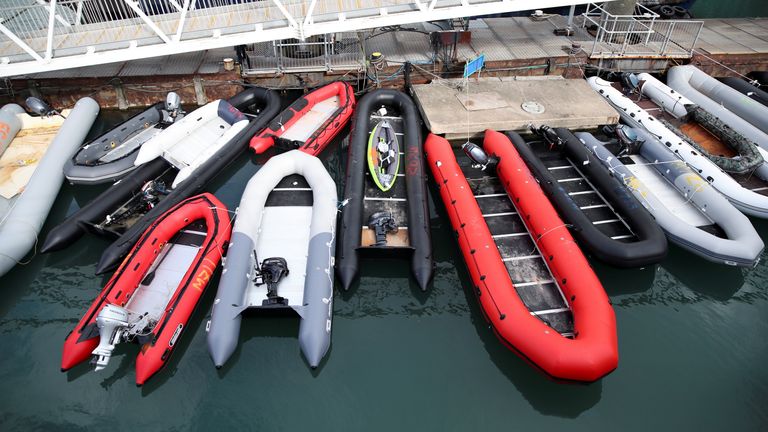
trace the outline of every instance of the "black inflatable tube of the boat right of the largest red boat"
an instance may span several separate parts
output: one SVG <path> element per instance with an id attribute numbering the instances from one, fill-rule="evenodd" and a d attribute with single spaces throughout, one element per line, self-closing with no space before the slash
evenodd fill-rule
<path id="1" fill-rule="evenodd" d="M 507 134 L 526 165 L 538 179 L 541 188 L 563 220 L 571 225 L 576 241 L 591 255 L 615 267 L 643 267 L 660 262 L 667 254 L 667 238 L 656 220 L 634 196 L 584 146 L 571 131 L 554 129 L 564 141 L 564 151 L 572 160 L 587 160 L 579 169 L 600 191 L 615 211 L 629 224 L 638 240 L 624 243 L 600 232 L 592 221 L 560 186 L 531 147 L 517 134 Z"/>

